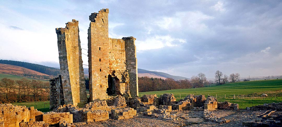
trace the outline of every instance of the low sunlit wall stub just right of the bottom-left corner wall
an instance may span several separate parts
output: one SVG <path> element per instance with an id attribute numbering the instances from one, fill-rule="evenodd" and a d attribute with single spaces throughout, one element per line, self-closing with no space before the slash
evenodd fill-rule
<path id="1" fill-rule="evenodd" d="M 73 115 L 69 112 L 47 112 L 42 115 L 43 121 L 50 125 L 58 124 L 60 121 L 66 121 L 67 123 L 73 123 Z"/>

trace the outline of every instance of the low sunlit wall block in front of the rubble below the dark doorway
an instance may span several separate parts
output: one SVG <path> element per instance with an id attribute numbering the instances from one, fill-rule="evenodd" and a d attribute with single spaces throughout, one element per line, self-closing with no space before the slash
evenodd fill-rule
<path id="1" fill-rule="evenodd" d="M 136 116 L 137 111 L 133 108 L 116 108 L 111 110 L 112 119 L 129 119 Z"/>

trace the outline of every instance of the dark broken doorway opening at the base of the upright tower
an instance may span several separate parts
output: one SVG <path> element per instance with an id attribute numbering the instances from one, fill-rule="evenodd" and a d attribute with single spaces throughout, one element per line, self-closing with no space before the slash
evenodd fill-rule
<path id="1" fill-rule="evenodd" d="M 120 80 L 116 77 L 112 77 L 110 74 L 108 75 L 108 88 L 107 88 L 107 94 L 109 96 L 116 95 L 117 92 L 117 86 L 119 84 Z"/>

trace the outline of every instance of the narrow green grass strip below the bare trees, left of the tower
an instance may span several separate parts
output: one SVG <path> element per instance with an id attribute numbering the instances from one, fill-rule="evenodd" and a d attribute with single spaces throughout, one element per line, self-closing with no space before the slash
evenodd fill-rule
<path id="1" fill-rule="evenodd" d="M 33 101 L 33 102 L 22 102 L 22 103 L 12 103 L 12 105 L 21 105 L 21 106 L 27 106 L 31 107 L 34 106 L 34 108 L 37 108 L 38 111 L 41 112 L 49 112 L 49 101 Z"/>

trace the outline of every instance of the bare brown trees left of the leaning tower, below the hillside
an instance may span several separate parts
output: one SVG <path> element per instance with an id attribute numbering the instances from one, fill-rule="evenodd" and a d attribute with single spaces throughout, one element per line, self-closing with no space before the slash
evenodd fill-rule
<path id="1" fill-rule="evenodd" d="M 49 100 L 49 82 L 40 80 L 0 80 L 0 103 Z"/>

